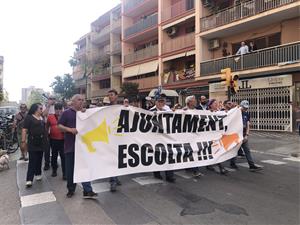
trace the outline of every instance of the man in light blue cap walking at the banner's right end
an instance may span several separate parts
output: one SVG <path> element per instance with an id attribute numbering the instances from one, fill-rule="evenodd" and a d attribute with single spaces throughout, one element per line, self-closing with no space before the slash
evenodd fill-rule
<path id="1" fill-rule="evenodd" d="M 252 159 L 251 152 L 250 152 L 249 143 L 248 143 L 248 136 L 249 136 L 249 132 L 250 132 L 250 114 L 248 112 L 249 102 L 247 100 L 243 100 L 243 101 L 241 101 L 240 106 L 241 106 L 241 111 L 242 111 L 243 136 L 244 136 L 244 140 L 243 140 L 241 148 L 243 149 L 246 159 L 248 161 L 249 170 L 252 172 L 255 172 L 258 170 L 262 170 L 262 168 L 259 166 L 256 166 L 254 164 L 254 161 Z M 232 168 L 237 169 L 238 167 L 237 167 L 235 161 L 236 161 L 235 158 L 231 159 L 230 166 Z"/>

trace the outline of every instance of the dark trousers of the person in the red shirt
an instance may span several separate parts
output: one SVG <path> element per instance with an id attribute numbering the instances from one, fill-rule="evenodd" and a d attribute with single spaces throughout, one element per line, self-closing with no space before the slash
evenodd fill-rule
<path id="1" fill-rule="evenodd" d="M 64 154 L 64 140 L 55 140 L 50 139 L 50 146 L 51 146 L 51 166 L 52 170 L 56 171 L 57 166 L 57 157 L 58 154 L 61 160 L 61 169 L 63 175 L 65 174 L 65 154 Z"/>

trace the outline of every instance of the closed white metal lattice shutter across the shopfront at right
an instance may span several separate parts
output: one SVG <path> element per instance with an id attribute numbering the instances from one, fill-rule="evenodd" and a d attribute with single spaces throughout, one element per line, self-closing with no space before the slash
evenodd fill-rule
<path id="1" fill-rule="evenodd" d="M 239 90 L 232 101 L 248 100 L 251 129 L 292 131 L 290 87 Z"/>

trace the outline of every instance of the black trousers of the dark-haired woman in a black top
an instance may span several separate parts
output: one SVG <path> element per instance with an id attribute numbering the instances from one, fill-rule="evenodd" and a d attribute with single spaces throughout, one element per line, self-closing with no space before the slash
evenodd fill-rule
<path id="1" fill-rule="evenodd" d="M 34 175 L 38 176 L 42 174 L 42 151 L 30 151 L 29 153 L 29 163 L 27 169 L 26 181 L 33 181 Z"/>

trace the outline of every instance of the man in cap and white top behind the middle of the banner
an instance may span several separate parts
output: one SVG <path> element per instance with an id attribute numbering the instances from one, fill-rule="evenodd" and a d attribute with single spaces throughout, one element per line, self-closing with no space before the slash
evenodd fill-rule
<path id="1" fill-rule="evenodd" d="M 152 107 L 150 109 L 150 111 L 152 112 L 157 112 L 157 111 L 166 111 L 166 112 L 170 112 L 172 111 L 170 108 L 168 110 L 168 108 L 166 108 L 166 95 L 165 94 L 160 94 L 159 96 L 157 96 L 156 100 L 155 100 L 155 106 Z M 176 178 L 174 177 L 174 172 L 173 171 L 165 171 L 166 174 L 166 181 L 170 182 L 170 183 L 174 183 Z M 156 171 L 153 172 L 153 175 L 155 178 L 162 180 L 163 177 L 160 174 L 160 171 Z"/>

